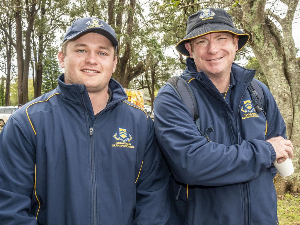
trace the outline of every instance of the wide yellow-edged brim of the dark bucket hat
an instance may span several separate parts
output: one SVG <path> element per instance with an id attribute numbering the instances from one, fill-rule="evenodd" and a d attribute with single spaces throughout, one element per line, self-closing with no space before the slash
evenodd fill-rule
<path id="1" fill-rule="evenodd" d="M 232 34 L 238 35 L 238 50 L 241 50 L 248 42 L 250 36 L 236 28 L 233 28 L 224 23 L 206 23 L 202 26 L 195 28 L 192 32 L 187 34 L 181 41 L 177 43 L 175 49 L 182 55 L 190 57 L 190 53 L 184 46 L 184 43 L 193 39 L 198 38 L 203 35 L 207 35 L 212 32 L 230 32 Z"/>

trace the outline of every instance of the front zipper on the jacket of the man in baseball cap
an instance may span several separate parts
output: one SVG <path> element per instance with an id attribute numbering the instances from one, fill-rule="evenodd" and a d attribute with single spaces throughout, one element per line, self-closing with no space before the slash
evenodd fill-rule
<path id="1" fill-rule="evenodd" d="M 81 94 L 82 104 L 85 108 L 85 114 L 88 119 L 87 108 Z M 88 120 L 89 125 L 89 120 Z M 91 173 L 92 173 L 92 199 L 93 199 L 93 225 L 97 225 L 97 208 L 96 208 L 96 181 L 95 181 L 95 156 L 94 156 L 94 140 L 93 140 L 93 128 L 89 129 L 90 141 L 91 141 Z"/>

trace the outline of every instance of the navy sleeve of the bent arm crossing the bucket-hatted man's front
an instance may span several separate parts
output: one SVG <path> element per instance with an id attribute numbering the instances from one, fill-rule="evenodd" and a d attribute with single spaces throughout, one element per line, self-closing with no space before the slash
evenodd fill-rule
<path id="1" fill-rule="evenodd" d="M 183 101 L 167 85 L 158 93 L 154 108 L 158 143 L 179 182 L 205 186 L 246 182 L 275 160 L 274 148 L 262 140 L 232 146 L 207 142 Z"/>

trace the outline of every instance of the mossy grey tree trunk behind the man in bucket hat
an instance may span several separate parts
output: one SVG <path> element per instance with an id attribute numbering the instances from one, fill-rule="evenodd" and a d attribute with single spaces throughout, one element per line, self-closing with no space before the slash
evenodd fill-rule
<path id="1" fill-rule="evenodd" d="M 270 90 L 286 123 L 286 136 L 294 146 L 295 173 L 288 178 L 275 177 L 278 197 L 287 190 L 300 192 L 300 60 L 296 58 L 292 38 L 292 21 L 298 1 L 282 0 L 288 6 L 284 18 L 265 10 L 265 0 L 244 1 L 232 8 L 244 32 L 250 34 L 249 44 L 262 67 Z M 282 31 L 274 21 L 281 25 Z"/>

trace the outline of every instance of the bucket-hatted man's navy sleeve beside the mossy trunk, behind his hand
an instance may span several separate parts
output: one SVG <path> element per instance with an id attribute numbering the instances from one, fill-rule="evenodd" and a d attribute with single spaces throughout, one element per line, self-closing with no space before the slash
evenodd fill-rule
<path id="1" fill-rule="evenodd" d="M 262 91 L 265 97 L 266 120 L 268 124 L 267 132 L 266 132 L 266 140 L 272 137 L 279 137 L 279 136 L 286 139 L 285 123 L 277 107 L 276 101 L 273 95 L 271 94 L 270 90 L 268 89 L 268 87 L 264 83 L 260 81 L 258 82 L 262 87 Z M 275 176 L 277 170 L 273 164 L 271 164 L 271 170 L 273 176 Z"/>

